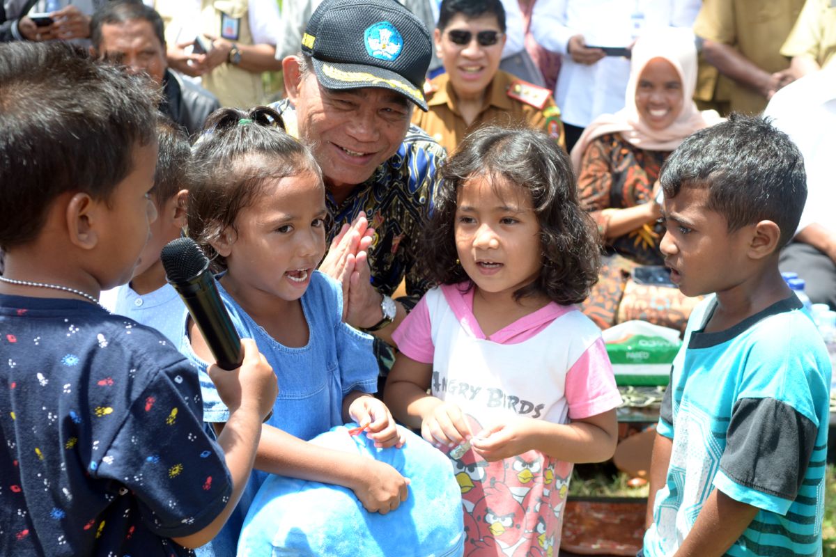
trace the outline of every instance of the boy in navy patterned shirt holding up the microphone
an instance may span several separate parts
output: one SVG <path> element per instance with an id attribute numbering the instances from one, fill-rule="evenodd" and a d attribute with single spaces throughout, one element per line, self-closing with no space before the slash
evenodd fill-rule
<path id="1" fill-rule="evenodd" d="M 203 433 L 195 370 L 96 304 L 155 219 L 152 88 L 65 45 L 0 46 L 0 554 L 191 554 L 222 527 L 276 397 L 244 342 L 212 379 L 232 418 Z M 232 428 L 231 428 L 232 426 Z"/>

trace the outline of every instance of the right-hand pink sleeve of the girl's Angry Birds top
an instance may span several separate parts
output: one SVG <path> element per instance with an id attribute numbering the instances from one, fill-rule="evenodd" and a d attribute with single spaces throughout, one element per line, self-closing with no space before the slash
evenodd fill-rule
<path id="1" fill-rule="evenodd" d="M 566 374 L 566 402 L 572 419 L 589 418 L 621 404 L 603 338 L 587 348 Z"/>

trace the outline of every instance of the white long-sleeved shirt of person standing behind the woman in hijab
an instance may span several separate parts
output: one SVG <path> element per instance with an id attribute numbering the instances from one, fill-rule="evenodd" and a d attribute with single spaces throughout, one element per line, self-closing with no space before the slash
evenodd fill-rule
<path id="1" fill-rule="evenodd" d="M 585 128 L 601 114 L 624 108 L 630 60 L 608 56 L 592 65 L 575 63 L 569 38 L 583 35 L 588 46 L 627 47 L 654 28 L 688 27 L 701 0 L 538 0 L 531 30 L 544 48 L 563 54 L 554 100 L 563 122 Z"/>

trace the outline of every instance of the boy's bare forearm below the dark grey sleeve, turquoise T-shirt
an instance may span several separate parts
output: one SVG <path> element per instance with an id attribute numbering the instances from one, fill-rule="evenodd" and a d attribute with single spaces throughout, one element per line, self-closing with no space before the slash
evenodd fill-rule
<path id="1" fill-rule="evenodd" d="M 726 550 L 752 523 L 758 510 L 714 489 L 702 505 L 694 526 L 675 557 L 720 557 L 726 554 Z"/>

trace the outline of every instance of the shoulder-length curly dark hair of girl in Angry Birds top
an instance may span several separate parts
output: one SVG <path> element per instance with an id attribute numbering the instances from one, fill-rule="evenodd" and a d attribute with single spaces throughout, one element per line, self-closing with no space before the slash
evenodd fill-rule
<path id="1" fill-rule="evenodd" d="M 535 281 L 516 292 L 545 294 L 562 305 L 589 296 L 598 281 L 599 235 L 581 209 L 572 165 L 554 140 L 533 129 L 486 126 L 469 134 L 441 167 L 431 221 L 422 238 L 421 268 L 436 284 L 473 282 L 458 263 L 456 200 L 475 176 L 501 178 L 527 190 L 540 224 L 543 267 Z"/>

